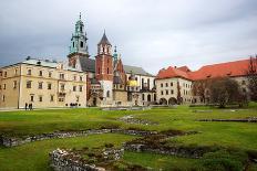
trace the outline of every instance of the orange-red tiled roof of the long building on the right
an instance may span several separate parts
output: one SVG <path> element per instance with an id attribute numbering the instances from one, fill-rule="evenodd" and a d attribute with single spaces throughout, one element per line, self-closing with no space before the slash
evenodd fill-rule
<path id="1" fill-rule="evenodd" d="M 244 76 L 248 70 L 249 60 L 234 61 L 213 65 L 205 65 L 195 72 L 185 72 L 187 66 L 161 70 L 157 78 L 183 77 L 186 79 L 198 81 L 225 76 Z"/>

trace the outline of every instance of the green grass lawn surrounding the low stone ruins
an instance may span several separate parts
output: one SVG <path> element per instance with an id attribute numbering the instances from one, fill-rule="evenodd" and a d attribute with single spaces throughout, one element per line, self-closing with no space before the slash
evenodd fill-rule
<path id="1" fill-rule="evenodd" d="M 119 120 L 125 115 L 147 119 L 158 125 L 126 124 Z M 154 108 L 133 111 L 102 111 L 97 108 L 54 109 L 33 111 L 1 111 L 0 135 L 25 136 L 58 130 L 83 130 L 102 127 L 141 128 L 146 130 L 196 130 L 199 133 L 169 139 L 173 145 L 218 146 L 240 151 L 257 150 L 256 122 L 202 122 L 208 118 L 257 117 L 257 106 L 243 109 L 217 109 L 210 107 Z M 37 141 L 14 148 L 0 147 L 0 170 L 50 170 L 48 153 L 56 148 L 82 148 L 101 146 L 104 142 L 121 145 L 134 137 L 125 135 L 92 135 L 81 138 Z M 202 160 L 167 157 L 153 153 L 125 152 L 124 160 L 164 170 L 189 170 L 201 165 Z M 176 167 L 174 167 L 176 165 Z M 251 164 L 249 170 L 256 170 Z"/>

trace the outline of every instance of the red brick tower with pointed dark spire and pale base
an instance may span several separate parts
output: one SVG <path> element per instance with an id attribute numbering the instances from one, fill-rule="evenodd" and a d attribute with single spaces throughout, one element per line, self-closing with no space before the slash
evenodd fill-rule
<path id="1" fill-rule="evenodd" d="M 97 44 L 97 55 L 95 56 L 95 77 L 103 88 L 103 98 L 112 100 L 113 96 L 113 58 L 112 45 L 104 32 L 102 40 Z"/>

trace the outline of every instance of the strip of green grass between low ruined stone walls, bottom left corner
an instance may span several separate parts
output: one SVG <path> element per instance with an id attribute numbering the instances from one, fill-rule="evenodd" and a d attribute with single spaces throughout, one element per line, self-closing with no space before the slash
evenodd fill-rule
<path id="1" fill-rule="evenodd" d="M 0 170 L 51 170 L 49 167 L 49 152 L 56 148 L 83 148 L 101 147 L 104 143 L 113 143 L 116 147 L 131 140 L 133 136 L 124 135 L 92 135 L 89 137 L 52 139 L 37 141 L 20 147 L 0 148 Z"/>

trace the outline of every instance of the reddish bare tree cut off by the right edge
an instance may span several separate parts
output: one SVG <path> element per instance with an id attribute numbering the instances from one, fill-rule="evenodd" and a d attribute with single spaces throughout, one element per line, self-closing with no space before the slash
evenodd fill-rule
<path id="1" fill-rule="evenodd" d="M 248 88 L 250 90 L 250 99 L 257 101 L 257 55 L 250 56 L 247 71 Z"/>

